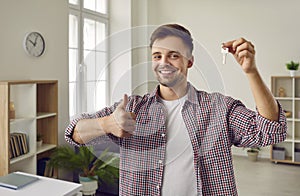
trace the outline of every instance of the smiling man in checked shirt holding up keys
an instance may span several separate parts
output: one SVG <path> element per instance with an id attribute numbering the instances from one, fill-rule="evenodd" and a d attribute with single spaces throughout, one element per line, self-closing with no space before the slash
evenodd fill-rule
<path id="1" fill-rule="evenodd" d="M 284 113 L 260 77 L 254 46 L 243 38 L 223 44 L 245 72 L 257 112 L 187 81 L 193 40 L 184 27 L 162 25 L 150 41 L 158 87 L 82 114 L 66 129 L 67 141 L 118 143 L 122 196 L 237 195 L 231 146 L 267 146 L 286 137 Z"/>

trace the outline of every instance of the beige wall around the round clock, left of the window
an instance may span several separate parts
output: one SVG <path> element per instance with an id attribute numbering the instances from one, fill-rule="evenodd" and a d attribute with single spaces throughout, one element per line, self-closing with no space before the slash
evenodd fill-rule
<path id="1" fill-rule="evenodd" d="M 55 79 L 59 81 L 59 143 L 68 124 L 68 1 L 0 0 L 0 80 Z M 23 39 L 40 32 L 45 53 L 28 56 Z"/>

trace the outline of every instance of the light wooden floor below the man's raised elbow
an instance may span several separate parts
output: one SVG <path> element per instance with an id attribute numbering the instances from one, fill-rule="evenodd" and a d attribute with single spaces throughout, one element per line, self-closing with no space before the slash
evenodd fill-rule
<path id="1" fill-rule="evenodd" d="M 234 156 L 234 171 L 240 196 L 300 195 L 300 166 L 275 164 L 268 159 L 251 162 Z M 113 196 L 97 193 L 97 196 Z"/>

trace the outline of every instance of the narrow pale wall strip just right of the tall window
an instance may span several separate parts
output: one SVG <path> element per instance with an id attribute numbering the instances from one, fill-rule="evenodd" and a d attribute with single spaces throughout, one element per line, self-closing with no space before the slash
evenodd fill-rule
<path id="1" fill-rule="evenodd" d="M 131 0 L 109 1 L 109 103 L 131 94 Z"/>

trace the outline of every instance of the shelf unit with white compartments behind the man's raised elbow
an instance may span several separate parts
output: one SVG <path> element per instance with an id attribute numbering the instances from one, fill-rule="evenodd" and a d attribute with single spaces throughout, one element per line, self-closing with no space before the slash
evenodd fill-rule
<path id="1" fill-rule="evenodd" d="M 287 117 L 287 139 L 271 147 L 271 161 L 300 164 L 300 76 L 272 76 L 271 90 Z"/>

